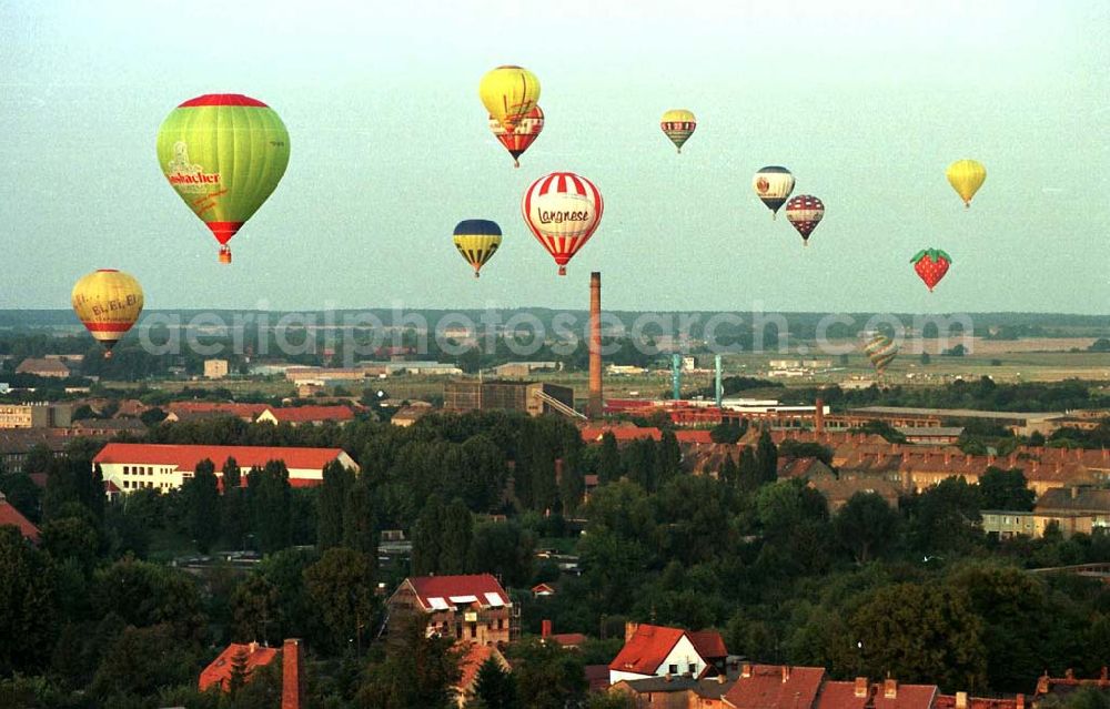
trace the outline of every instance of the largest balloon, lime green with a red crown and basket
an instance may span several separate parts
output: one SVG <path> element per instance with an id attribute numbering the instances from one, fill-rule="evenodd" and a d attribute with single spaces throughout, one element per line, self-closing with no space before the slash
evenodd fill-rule
<path id="1" fill-rule="evenodd" d="M 185 101 L 158 131 L 158 162 L 170 186 L 220 242 L 228 242 L 274 191 L 289 164 L 289 133 L 278 113 L 238 93 Z"/>

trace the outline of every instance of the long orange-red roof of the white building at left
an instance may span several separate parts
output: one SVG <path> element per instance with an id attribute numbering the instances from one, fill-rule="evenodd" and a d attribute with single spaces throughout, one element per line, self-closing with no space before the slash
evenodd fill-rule
<path id="1" fill-rule="evenodd" d="M 322 469 L 337 458 L 341 448 L 281 448 L 276 446 L 188 446 L 145 443 L 110 443 L 97 454 L 93 463 L 121 463 L 143 465 L 176 466 L 179 470 L 192 470 L 196 464 L 208 458 L 215 464 L 216 474 L 223 463 L 235 458 L 245 473 L 250 468 L 263 467 L 271 460 L 284 460 L 290 469 Z M 245 475 L 244 475 L 245 478 Z"/>

